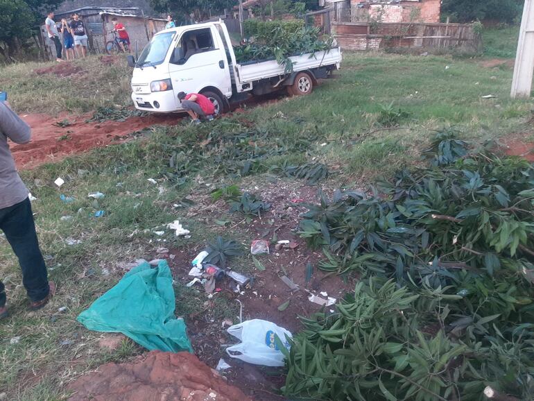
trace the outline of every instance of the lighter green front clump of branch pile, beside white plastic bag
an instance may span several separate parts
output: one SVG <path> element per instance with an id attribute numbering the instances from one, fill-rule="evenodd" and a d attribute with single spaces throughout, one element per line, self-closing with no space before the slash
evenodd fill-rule
<path id="1" fill-rule="evenodd" d="M 531 399 L 534 336 L 528 330 L 533 325 L 499 332 L 499 314 L 475 313 L 469 327 L 453 335 L 460 319 L 452 313 L 458 306 L 446 291 L 418 294 L 393 280 L 372 278 L 356 284 L 354 295 L 341 300 L 334 314 L 301 317 L 304 330 L 293 337 L 291 350 L 280 347 L 288 361 L 284 395 L 482 400 L 491 383 Z"/>

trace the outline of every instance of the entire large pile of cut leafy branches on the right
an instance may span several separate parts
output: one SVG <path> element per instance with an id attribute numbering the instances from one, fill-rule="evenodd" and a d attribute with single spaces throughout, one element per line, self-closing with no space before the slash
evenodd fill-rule
<path id="1" fill-rule="evenodd" d="M 362 280 L 334 313 L 302 318 L 286 395 L 533 399 L 534 168 L 450 133 L 426 155 L 370 194 L 308 205 L 300 234 L 325 249 L 320 268 Z"/>

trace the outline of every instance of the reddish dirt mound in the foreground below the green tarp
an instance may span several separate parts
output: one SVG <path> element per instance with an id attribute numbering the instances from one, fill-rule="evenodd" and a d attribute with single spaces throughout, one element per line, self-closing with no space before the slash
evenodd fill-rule
<path id="1" fill-rule="evenodd" d="M 71 401 L 252 401 L 189 352 L 152 351 L 130 364 L 105 364 L 69 390 Z"/>

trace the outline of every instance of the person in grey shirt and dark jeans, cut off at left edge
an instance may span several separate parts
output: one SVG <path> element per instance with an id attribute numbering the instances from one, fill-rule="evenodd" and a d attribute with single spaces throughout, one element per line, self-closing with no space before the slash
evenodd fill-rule
<path id="1" fill-rule="evenodd" d="M 55 284 L 48 280 L 28 189 L 17 173 L 8 139 L 26 144 L 31 139 L 31 128 L 6 103 L 0 102 L 0 230 L 19 259 L 22 284 L 31 300 L 30 309 L 37 310 L 49 302 Z M 0 281 L 0 320 L 7 316 L 6 287 Z"/>

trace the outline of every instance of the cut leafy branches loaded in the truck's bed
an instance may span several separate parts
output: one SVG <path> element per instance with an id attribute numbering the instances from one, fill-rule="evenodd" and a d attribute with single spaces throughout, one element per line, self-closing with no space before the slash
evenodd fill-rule
<path id="1" fill-rule="evenodd" d="M 319 28 L 304 26 L 304 21 L 298 19 L 268 22 L 248 19 L 245 28 L 252 41 L 234 48 L 237 62 L 275 58 L 286 72 L 293 71 L 290 56 L 327 51 L 333 43 L 332 37 L 320 39 Z"/>

